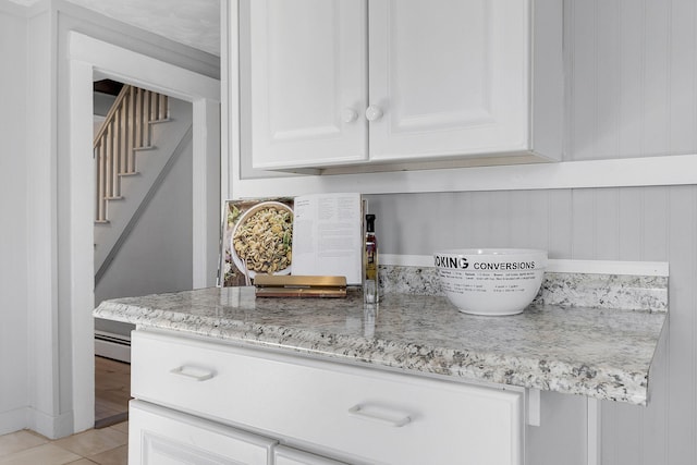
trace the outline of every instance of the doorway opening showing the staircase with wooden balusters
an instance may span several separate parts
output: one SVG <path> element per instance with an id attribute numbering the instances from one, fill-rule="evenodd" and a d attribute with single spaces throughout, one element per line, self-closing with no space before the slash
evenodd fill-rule
<path id="1" fill-rule="evenodd" d="M 95 306 L 193 289 L 192 105 L 94 83 Z M 127 418 L 133 325 L 95 319 L 95 427 Z"/>

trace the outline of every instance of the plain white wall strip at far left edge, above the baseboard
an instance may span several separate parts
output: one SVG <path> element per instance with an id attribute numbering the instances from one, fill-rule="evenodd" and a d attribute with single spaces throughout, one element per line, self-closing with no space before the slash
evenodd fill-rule
<path id="1" fill-rule="evenodd" d="M 0 435 L 27 418 L 26 34 L 23 11 L 0 3 Z M 12 376 L 8 376 L 12 374 Z"/>

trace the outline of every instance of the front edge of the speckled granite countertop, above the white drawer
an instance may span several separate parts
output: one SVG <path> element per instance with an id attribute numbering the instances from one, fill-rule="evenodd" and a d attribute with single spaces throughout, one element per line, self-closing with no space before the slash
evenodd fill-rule
<path id="1" fill-rule="evenodd" d="M 172 294 L 172 297 L 175 295 Z M 403 344 L 169 310 L 144 311 L 143 307 L 124 302 L 106 302 L 95 311 L 95 316 L 127 321 L 139 328 L 171 330 L 228 343 L 237 342 L 247 346 L 279 348 L 310 356 L 321 355 L 322 358 L 359 362 L 412 374 L 442 375 L 454 379 L 534 388 L 634 405 L 647 405 L 648 401 L 648 372 L 617 372 L 562 360 Z"/>

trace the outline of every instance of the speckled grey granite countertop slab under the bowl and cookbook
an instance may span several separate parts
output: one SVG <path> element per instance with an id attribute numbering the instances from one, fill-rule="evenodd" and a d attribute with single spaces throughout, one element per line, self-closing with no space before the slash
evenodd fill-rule
<path id="1" fill-rule="evenodd" d="M 438 295 L 387 294 L 376 310 L 358 293 L 255 299 L 253 287 L 211 287 L 106 301 L 94 315 L 325 359 L 646 405 L 668 313 L 538 298 L 519 315 L 484 317 Z"/>

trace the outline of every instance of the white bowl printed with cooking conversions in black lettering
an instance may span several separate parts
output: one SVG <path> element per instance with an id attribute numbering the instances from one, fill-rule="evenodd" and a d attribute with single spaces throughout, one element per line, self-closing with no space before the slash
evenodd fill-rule
<path id="1" fill-rule="evenodd" d="M 433 254 L 440 282 L 460 311 L 516 315 L 537 295 L 547 250 L 530 248 L 458 248 Z"/>

